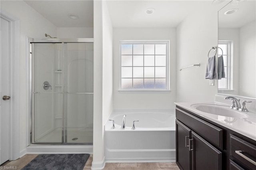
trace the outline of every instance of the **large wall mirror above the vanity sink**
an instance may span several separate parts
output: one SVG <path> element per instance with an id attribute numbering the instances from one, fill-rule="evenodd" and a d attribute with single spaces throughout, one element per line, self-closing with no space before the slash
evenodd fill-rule
<path id="1" fill-rule="evenodd" d="M 233 0 L 218 12 L 218 56 L 226 74 L 218 93 L 256 98 L 255 18 L 255 0 Z"/>

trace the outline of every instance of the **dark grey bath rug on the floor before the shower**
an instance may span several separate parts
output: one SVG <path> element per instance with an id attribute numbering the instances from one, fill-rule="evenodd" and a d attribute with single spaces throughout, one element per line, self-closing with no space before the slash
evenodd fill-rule
<path id="1" fill-rule="evenodd" d="M 39 154 L 21 170 L 82 170 L 90 154 Z"/>

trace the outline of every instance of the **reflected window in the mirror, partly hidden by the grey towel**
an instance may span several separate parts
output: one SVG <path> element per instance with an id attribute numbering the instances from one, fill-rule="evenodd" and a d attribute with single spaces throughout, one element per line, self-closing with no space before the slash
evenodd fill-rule
<path id="1" fill-rule="evenodd" d="M 225 69 L 225 78 L 218 80 L 218 89 L 219 90 L 232 90 L 231 83 L 231 68 L 230 61 L 232 59 L 232 42 L 231 41 L 219 41 L 218 47 L 220 47 L 223 51 L 218 50 L 218 57 L 223 56 L 224 69 Z"/>

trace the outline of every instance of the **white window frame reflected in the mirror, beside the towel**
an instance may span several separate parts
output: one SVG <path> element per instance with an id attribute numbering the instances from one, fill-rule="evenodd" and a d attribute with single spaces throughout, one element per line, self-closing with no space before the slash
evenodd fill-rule
<path id="1" fill-rule="evenodd" d="M 224 44 L 227 46 L 227 50 L 226 50 L 226 58 L 227 58 L 227 62 L 226 62 L 226 88 L 218 88 L 219 91 L 230 91 L 233 90 L 233 79 L 232 79 L 232 68 L 231 68 L 231 62 L 233 60 L 233 41 L 230 40 L 219 40 L 218 44 Z M 218 49 L 219 51 L 221 51 L 221 49 Z M 218 57 L 221 55 L 218 55 Z"/>

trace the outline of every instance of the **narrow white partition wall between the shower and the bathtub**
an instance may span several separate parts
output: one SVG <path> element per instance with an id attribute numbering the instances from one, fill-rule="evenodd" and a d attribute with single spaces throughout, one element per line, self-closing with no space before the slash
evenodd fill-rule
<path id="1" fill-rule="evenodd" d="M 113 110 L 112 23 L 106 1 L 94 1 L 94 127 L 92 169 L 104 167 L 104 125 Z"/>

